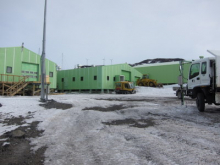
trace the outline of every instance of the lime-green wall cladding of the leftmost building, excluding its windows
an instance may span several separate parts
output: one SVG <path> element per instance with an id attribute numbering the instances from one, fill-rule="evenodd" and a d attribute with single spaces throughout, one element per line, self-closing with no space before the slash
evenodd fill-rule
<path id="1" fill-rule="evenodd" d="M 26 48 L 21 48 L 21 47 L 0 48 L 0 74 L 22 76 L 26 74 L 26 73 L 22 73 L 22 66 L 24 67 L 25 64 L 30 66 L 35 65 L 37 68 L 36 81 L 40 81 L 40 75 L 41 75 L 40 58 L 41 58 L 40 55 Z M 12 73 L 6 72 L 7 66 L 12 67 Z M 49 76 L 49 72 L 53 72 L 53 77 L 49 77 L 50 88 L 56 88 L 57 86 L 56 63 L 48 59 L 45 59 L 45 68 L 46 68 L 47 76 Z M 1 81 L 4 81 L 4 79 L 5 77 L 3 77 L 3 80 Z M 29 81 L 33 81 L 33 79 L 30 78 Z"/>

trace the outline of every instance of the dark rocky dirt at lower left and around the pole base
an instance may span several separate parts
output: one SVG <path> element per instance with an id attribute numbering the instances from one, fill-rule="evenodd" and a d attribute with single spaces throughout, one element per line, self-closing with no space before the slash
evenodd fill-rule
<path id="1" fill-rule="evenodd" d="M 57 108 L 68 109 L 71 108 L 71 104 L 59 103 L 54 100 L 50 100 L 45 104 L 40 104 L 45 109 Z M 31 150 L 30 138 L 41 136 L 43 131 L 37 129 L 39 122 L 32 122 L 29 126 L 21 126 L 25 124 L 25 119 L 32 118 L 30 112 L 28 116 L 18 118 L 7 118 L 3 121 L 4 125 L 17 125 L 17 129 L 9 131 L 0 136 L 0 165 L 43 165 L 44 164 L 44 152 L 46 146 L 41 147 L 36 152 Z M 1 117 L 1 116 L 0 116 Z"/>

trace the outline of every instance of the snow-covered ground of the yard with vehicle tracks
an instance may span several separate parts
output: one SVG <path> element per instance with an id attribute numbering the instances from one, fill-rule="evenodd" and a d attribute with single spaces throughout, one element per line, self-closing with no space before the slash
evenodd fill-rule
<path id="1" fill-rule="evenodd" d="M 39 97 L 0 97 L 0 121 L 41 121 L 33 150 L 47 146 L 45 165 L 220 164 L 220 110 L 181 106 L 172 86 L 138 87 L 133 95 L 65 94 L 49 99 L 73 107 L 45 109 Z M 0 122 L 0 135 L 18 126 Z"/>

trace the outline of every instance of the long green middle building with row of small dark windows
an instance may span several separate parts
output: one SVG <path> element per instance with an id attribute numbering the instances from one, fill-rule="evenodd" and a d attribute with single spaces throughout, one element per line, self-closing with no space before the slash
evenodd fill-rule
<path id="1" fill-rule="evenodd" d="M 58 91 L 109 91 L 115 82 L 136 82 L 142 74 L 128 64 L 95 66 L 57 72 Z"/>

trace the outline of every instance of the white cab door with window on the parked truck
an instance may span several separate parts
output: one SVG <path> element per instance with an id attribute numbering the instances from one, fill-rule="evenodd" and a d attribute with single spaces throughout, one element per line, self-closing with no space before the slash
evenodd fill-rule
<path id="1" fill-rule="evenodd" d="M 190 67 L 188 89 L 193 89 L 201 84 L 200 78 L 200 63 L 194 63 Z"/>

